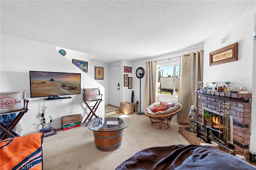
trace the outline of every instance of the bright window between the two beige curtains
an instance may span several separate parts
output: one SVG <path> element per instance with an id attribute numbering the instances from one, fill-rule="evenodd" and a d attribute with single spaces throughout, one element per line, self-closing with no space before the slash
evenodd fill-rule
<path id="1" fill-rule="evenodd" d="M 179 73 L 179 63 L 158 65 L 158 94 L 178 95 Z"/>

